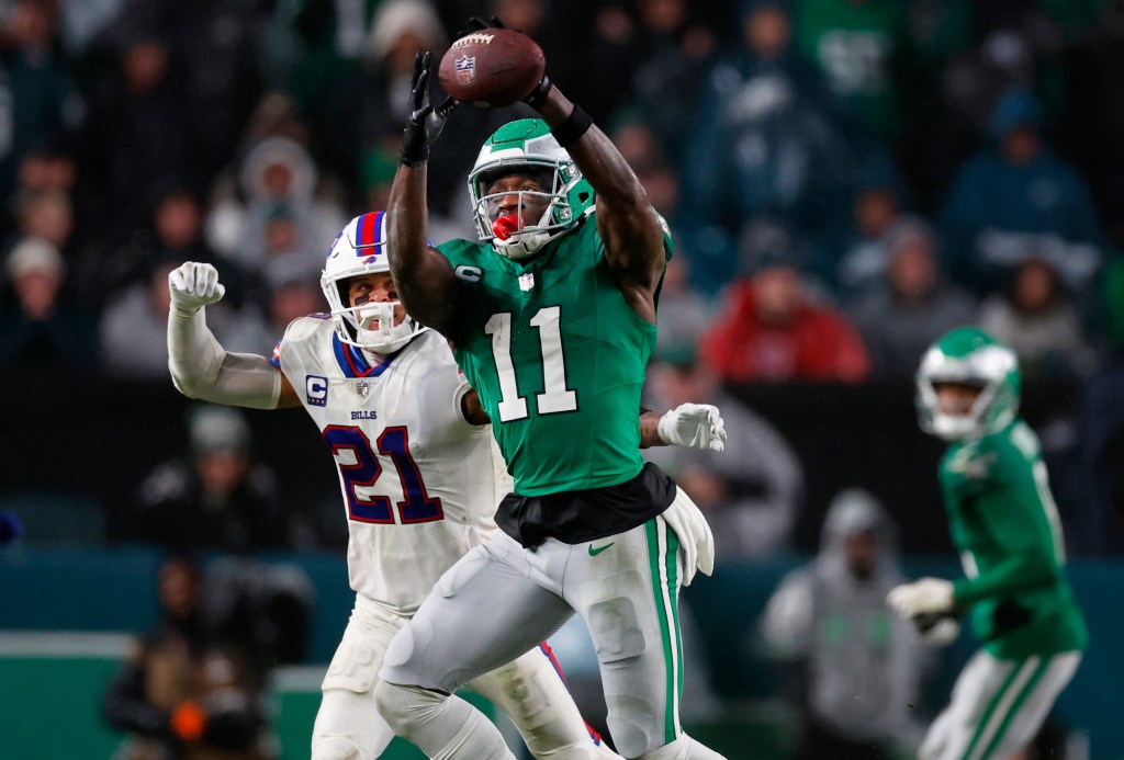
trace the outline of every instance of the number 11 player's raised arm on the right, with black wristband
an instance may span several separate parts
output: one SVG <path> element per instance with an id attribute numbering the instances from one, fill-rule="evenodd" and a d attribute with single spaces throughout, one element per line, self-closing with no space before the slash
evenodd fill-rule
<path id="1" fill-rule="evenodd" d="M 617 147 L 589 116 L 543 81 L 527 98 L 597 191 L 597 228 L 617 285 L 632 308 L 655 323 L 663 276 L 663 226 L 647 192 Z"/>

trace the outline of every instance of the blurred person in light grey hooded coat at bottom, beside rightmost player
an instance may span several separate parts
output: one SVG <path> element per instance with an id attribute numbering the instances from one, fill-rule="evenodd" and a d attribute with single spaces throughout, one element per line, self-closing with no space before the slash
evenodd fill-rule
<path id="1" fill-rule="evenodd" d="M 904 579 L 881 504 L 860 488 L 840 492 L 819 553 L 785 576 L 761 621 L 801 716 L 798 760 L 878 760 L 916 741 L 923 649 L 886 606 Z"/>

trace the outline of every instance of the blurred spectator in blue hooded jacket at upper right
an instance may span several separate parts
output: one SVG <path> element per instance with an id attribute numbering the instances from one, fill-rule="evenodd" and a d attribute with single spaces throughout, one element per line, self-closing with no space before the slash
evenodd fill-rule
<path id="1" fill-rule="evenodd" d="M 1042 110 L 1022 88 L 995 103 L 991 143 L 960 170 L 940 211 L 954 278 L 986 292 L 1032 253 L 1073 291 L 1100 265 L 1100 223 L 1085 180 L 1043 141 Z"/>

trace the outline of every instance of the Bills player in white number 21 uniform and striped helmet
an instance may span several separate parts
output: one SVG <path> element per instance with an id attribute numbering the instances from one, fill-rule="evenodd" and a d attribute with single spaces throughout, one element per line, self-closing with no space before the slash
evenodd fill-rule
<path id="1" fill-rule="evenodd" d="M 293 320 L 272 360 L 228 354 L 207 328 L 202 308 L 224 294 L 212 266 L 189 262 L 169 280 L 176 387 L 259 409 L 303 404 L 338 469 L 356 594 L 324 679 L 316 760 L 374 758 L 387 748 L 393 732 L 372 698 L 387 644 L 442 574 L 496 532 L 492 514 L 510 484 L 445 340 L 399 304 L 384 240 L 382 212 L 347 225 L 320 280 L 330 315 Z M 701 409 L 701 418 L 668 419 L 698 427 L 713 408 Z M 649 413 L 643 421 L 647 442 L 661 442 L 660 420 Z M 472 686 L 511 716 L 536 757 L 616 757 L 591 741 L 545 648 Z"/>

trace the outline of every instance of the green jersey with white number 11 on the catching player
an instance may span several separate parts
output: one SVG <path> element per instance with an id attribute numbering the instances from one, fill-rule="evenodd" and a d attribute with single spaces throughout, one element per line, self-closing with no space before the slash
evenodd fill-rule
<path id="1" fill-rule="evenodd" d="M 670 238 L 664 246 L 670 255 Z M 527 260 L 469 240 L 439 250 L 460 285 L 453 352 L 492 420 L 515 492 L 542 496 L 635 477 L 656 329 L 609 274 L 596 213 Z"/>

